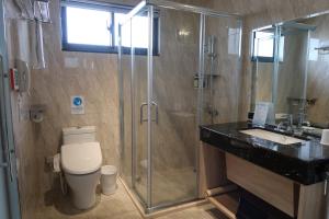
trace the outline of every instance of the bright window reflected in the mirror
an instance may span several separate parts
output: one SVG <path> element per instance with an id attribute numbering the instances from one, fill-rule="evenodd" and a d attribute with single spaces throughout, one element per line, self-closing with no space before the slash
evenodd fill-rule
<path id="1" fill-rule="evenodd" d="M 284 36 L 280 37 L 279 60 L 283 61 Z M 273 31 L 256 31 L 253 33 L 252 60 L 261 62 L 274 61 L 275 37 Z"/>

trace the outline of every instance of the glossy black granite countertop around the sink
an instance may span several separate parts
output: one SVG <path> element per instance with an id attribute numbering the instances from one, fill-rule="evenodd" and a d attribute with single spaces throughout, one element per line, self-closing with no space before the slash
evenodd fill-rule
<path id="1" fill-rule="evenodd" d="M 300 184 L 324 181 L 324 173 L 329 170 L 329 147 L 320 145 L 320 139 L 294 136 L 304 142 L 281 145 L 240 132 L 252 128 L 260 127 L 247 122 L 201 126 L 200 137 L 206 143 Z M 261 129 L 273 131 L 270 127 Z"/>

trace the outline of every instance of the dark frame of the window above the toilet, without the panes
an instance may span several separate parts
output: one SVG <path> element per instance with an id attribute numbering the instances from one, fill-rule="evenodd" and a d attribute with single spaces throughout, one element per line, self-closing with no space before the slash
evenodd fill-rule
<path id="1" fill-rule="evenodd" d="M 77 7 L 81 9 L 90 10 L 102 10 L 111 14 L 111 43 L 110 46 L 98 46 L 98 45 L 86 45 L 86 44 L 71 44 L 67 41 L 67 7 Z M 79 3 L 79 4 L 65 4 L 60 5 L 60 15 L 61 15 L 61 50 L 63 51 L 83 51 L 83 53 L 103 53 L 103 54 L 118 54 L 118 46 L 115 45 L 115 18 L 114 13 L 124 13 L 129 12 L 133 8 L 129 5 L 123 4 L 111 4 L 109 7 L 97 5 L 92 3 Z M 152 55 L 159 56 L 159 12 L 155 12 L 154 18 L 154 42 L 152 42 Z M 148 55 L 148 48 L 134 48 L 135 55 Z M 122 47 L 122 53 L 125 55 L 131 55 L 131 47 Z"/>

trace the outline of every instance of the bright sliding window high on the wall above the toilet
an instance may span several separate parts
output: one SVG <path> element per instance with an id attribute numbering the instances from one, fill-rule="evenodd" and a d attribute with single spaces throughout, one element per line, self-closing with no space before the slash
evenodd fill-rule
<path id="1" fill-rule="evenodd" d="M 131 8 L 123 5 L 100 7 L 93 4 L 66 4 L 61 7 L 63 50 L 117 53 L 118 24 Z M 158 13 L 154 21 L 154 54 L 158 55 Z M 124 25 L 122 35 L 123 53 L 131 53 L 131 30 Z M 133 19 L 132 39 L 135 54 L 147 55 L 148 18 L 137 15 Z"/>

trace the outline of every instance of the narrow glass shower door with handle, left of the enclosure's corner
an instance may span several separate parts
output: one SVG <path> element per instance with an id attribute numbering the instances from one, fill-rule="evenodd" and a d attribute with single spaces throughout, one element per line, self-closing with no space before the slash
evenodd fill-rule
<path id="1" fill-rule="evenodd" d="M 147 9 L 132 19 L 132 95 L 133 95 L 133 186 L 139 198 L 147 203 L 148 153 L 147 153 L 147 56 L 136 55 L 140 36 L 147 35 Z M 141 27 L 143 28 L 141 28 Z M 141 32 L 146 32 L 141 34 Z M 147 42 L 147 39 L 145 39 Z"/>

